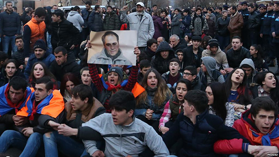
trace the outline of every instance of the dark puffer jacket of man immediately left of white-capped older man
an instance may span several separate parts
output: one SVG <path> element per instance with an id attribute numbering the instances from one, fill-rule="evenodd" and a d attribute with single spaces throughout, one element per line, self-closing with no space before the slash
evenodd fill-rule
<path id="1" fill-rule="evenodd" d="M 104 19 L 104 31 L 110 30 L 120 30 L 120 20 L 119 17 L 112 11 L 105 16 Z"/>

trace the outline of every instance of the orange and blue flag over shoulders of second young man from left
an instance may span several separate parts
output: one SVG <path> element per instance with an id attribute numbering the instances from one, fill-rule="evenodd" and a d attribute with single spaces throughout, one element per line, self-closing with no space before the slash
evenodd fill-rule
<path id="1" fill-rule="evenodd" d="M 63 96 L 58 90 L 54 90 L 37 106 L 35 106 L 35 93 L 33 92 L 26 102 L 26 106 L 17 112 L 16 115 L 29 117 L 34 119 L 34 114 L 45 114 L 56 118 L 64 110 Z"/>

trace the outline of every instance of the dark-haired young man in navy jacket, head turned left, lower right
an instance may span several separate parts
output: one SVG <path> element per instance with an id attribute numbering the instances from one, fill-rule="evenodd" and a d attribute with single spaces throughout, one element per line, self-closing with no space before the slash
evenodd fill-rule
<path id="1" fill-rule="evenodd" d="M 184 97 L 183 110 L 170 130 L 163 135 L 163 140 L 170 148 L 173 143 L 183 139 L 182 149 L 177 152 L 179 157 L 215 157 L 213 145 L 217 140 L 234 139 L 248 144 L 235 129 L 225 126 L 224 121 L 208 113 L 208 98 L 199 90 L 189 91 Z M 242 149 L 241 144 L 234 144 Z"/>

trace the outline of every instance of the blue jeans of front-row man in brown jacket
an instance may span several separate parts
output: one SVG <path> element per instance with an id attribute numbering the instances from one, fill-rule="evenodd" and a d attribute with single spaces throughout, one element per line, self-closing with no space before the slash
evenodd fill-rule
<path id="1" fill-rule="evenodd" d="M 43 136 L 46 157 L 58 157 L 58 150 L 67 157 L 80 157 L 86 154 L 82 142 L 58 134 L 57 131 L 45 133 Z"/>

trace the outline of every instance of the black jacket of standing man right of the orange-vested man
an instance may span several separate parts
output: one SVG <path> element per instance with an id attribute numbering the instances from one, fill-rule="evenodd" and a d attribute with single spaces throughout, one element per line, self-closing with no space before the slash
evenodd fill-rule
<path id="1" fill-rule="evenodd" d="M 78 45 L 79 31 L 73 23 L 67 21 L 65 18 L 60 23 L 52 23 L 51 45 L 52 48 L 65 47 L 67 51 L 71 51 L 72 45 Z"/>

